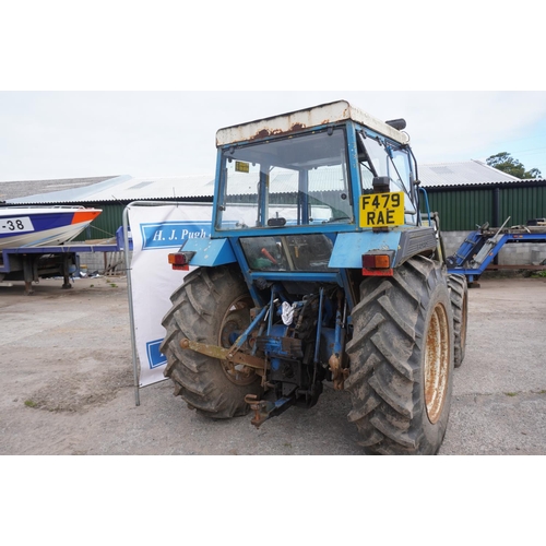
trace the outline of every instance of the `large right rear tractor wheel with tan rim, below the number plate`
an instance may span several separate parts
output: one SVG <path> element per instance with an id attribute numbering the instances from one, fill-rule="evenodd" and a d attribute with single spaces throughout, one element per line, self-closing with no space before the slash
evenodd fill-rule
<path id="1" fill-rule="evenodd" d="M 349 422 L 369 454 L 436 454 L 451 405 L 453 313 L 442 266 L 415 257 L 368 277 L 347 343 Z"/>

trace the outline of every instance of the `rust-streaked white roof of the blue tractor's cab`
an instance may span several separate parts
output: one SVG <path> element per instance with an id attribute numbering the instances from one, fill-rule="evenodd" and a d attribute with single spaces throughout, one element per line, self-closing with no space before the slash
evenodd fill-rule
<path id="1" fill-rule="evenodd" d="M 407 144 L 410 136 L 368 112 L 352 106 L 346 100 L 337 100 L 313 106 L 304 110 L 282 114 L 270 118 L 225 127 L 216 132 L 216 146 L 249 142 L 282 134 L 294 134 L 308 128 L 353 120 L 389 136 L 395 142 Z"/>

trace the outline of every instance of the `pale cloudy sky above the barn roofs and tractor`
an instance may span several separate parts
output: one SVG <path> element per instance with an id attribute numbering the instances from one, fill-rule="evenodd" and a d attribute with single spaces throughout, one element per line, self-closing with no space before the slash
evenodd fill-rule
<path id="1" fill-rule="evenodd" d="M 214 174 L 216 130 L 346 99 L 422 164 L 508 152 L 546 178 L 544 91 L 1 91 L 0 181 Z"/>

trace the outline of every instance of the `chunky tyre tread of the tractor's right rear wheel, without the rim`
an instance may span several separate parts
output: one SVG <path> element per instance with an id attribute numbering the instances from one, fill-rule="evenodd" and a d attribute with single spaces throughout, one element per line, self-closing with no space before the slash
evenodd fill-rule
<path id="1" fill-rule="evenodd" d="M 353 400 L 348 419 L 364 437 L 359 443 L 368 453 L 432 454 L 439 449 L 423 431 L 424 400 L 415 395 L 422 389 L 428 300 L 439 284 L 447 299 L 444 269 L 424 257 L 395 269 L 393 277 L 361 284 L 361 299 L 353 310 L 353 339 L 346 345 L 351 375 L 345 389 Z M 451 309 L 447 311 L 451 320 Z"/>

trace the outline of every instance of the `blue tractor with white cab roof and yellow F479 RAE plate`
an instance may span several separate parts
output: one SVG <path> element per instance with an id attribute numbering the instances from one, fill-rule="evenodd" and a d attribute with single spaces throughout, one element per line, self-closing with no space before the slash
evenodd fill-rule
<path id="1" fill-rule="evenodd" d="M 366 453 L 437 453 L 467 288 L 420 213 L 404 128 L 340 100 L 217 131 L 211 238 L 169 257 L 195 268 L 163 320 L 190 408 L 259 427 L 330 381 Z"/>

